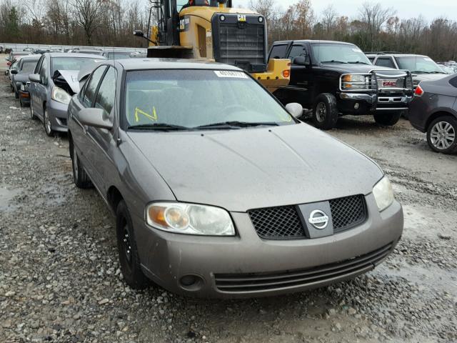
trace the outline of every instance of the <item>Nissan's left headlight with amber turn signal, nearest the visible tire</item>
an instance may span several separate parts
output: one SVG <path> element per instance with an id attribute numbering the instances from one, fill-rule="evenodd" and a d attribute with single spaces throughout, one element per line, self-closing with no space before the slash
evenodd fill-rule
<path id="1" fill-rule="evenodd" d="M 219 207 L 159 202 L 146 207 L 146 221 L 151 227 L 178 234 L 235 235 L 229 212 Z"/>

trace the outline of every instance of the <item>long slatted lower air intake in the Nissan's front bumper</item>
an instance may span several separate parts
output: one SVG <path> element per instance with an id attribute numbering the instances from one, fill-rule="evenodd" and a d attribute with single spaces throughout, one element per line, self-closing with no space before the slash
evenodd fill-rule
<path id="1" fill-rule="evenodd" d="M 309 269 L 272 273 L 214 274 L 214 280 L 216 287 L 221 292 L 228 293 L 261 292 L 286 287 L 311 287 L 313 284 L 342 279 L 374 267 L 376 263 L 388 256 L 392 244 L 352 259 Z"/>

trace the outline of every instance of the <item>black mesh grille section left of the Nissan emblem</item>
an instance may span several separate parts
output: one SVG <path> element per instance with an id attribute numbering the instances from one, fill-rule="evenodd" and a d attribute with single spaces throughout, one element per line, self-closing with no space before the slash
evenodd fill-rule
<path id="1" fill-rule="evenodd" d="M 248 213 L 258 236 L 261 238 L 306 237 L 295 206 L 254 209 Z"/>

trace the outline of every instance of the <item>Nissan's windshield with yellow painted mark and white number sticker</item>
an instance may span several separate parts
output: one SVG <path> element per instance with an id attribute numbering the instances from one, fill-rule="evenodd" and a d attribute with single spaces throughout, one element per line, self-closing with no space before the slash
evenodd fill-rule
<path id="1" fill-rule="evenodd" d="M 127 126 L 196 129 L 228 122 L 293 124 L 243 71 L 141 70 L 126 75 Z"/>

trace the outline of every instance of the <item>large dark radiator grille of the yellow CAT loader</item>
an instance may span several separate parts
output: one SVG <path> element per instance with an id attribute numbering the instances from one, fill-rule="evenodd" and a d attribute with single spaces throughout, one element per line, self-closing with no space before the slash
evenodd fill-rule
<path id="1" fill-rule="evenodd" d="M 218 62 L 233 65 L 237 62 L 265 64 L 265 29 L 262 24 L 221 24 L 219 42 Z"/>

